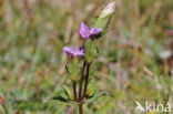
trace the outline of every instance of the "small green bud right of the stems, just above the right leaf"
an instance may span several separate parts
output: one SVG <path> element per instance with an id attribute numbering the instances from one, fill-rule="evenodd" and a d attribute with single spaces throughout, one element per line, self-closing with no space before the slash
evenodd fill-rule
<path id="1" fill-rule="evenodd" d="M 89 83 L 89 86 L 88 86 L 88 91 L 86 91 L 86 95 L 88 96 L 92 96 L 95 92 L 95 89 L 96 89 L 96 83 L 95 83 L 95 80 L 92 80 L 90 83 Z"/>

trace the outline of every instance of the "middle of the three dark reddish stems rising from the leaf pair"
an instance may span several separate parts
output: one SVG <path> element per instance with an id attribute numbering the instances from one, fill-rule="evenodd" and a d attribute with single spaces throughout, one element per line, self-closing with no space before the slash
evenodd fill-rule
<path id="1" fill-rule="evenodd" d="M 81 97 L 82 97 L 82 83 L 83 83 L 83 75 L 84 75 L 85 64 L 86 63 L 84 61 L 83 66 L 82 66 L 82 71 L 81 71 L 80 85 L 79 85 L 79 101 L 81 101 Z"/>

